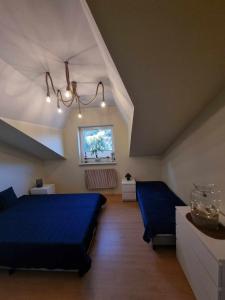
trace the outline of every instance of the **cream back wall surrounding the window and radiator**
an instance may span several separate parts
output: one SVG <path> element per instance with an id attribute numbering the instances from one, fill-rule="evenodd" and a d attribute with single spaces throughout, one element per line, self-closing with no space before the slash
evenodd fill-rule
<path id="1" fill-rule="evenodd" d="M 138 180 L 160 180 L 161 162 L 158 158 L 129 157 L 129 134 L 127 125 L 115 107 L 87 108 L 83 111 L 83 119 L 77 118 L 72 111 L 64 128 L 65 161 L 45 162 L 46 180 L 56 184 L 58 192 L 86 191 L 84 184 L 85 168 L 115 168 L 121 177 L 130 172 Z M 79 166 L 78 126 L 114 125 L 117 165 Z M 140 134 L 144 134 L 144 131 Z M 108 191 L 109 192 L 109 191 Z M 119 184 L 115 193 L 121 192 Z"/>

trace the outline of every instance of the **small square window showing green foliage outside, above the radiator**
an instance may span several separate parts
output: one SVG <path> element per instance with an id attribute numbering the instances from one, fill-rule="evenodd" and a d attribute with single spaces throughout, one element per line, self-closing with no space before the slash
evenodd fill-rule
<path id="1" fill-rule="evenodd" d="M 81 163 L 115 162 L 113 126 L 80 127 L 79 151 Z"/>

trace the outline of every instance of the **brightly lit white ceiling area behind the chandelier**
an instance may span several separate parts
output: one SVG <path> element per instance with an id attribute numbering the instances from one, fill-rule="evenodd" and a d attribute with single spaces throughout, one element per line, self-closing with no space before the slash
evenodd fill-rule
<path id="1" fill-rule="evenodd" d="M 79 0 L 0 0 L 0 45 L 1 117 L 63 127 L 68 110 L 59 115 L 55 103 L 45 102 L 44 74 L 50 71 L 56 87 L 65 88 L 67 59 L 83 100 L 101 80 L 113 105 L 105 64 Z"/>

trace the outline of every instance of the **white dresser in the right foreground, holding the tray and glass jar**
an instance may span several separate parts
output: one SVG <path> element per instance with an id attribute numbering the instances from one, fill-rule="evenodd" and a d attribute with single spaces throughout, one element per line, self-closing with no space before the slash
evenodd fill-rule
<path id="1" fill-rule="evenodd" d="M 176 207 L 177 258 L 198 300 L 225 300 L 225 240 L 201 233 Z"/>

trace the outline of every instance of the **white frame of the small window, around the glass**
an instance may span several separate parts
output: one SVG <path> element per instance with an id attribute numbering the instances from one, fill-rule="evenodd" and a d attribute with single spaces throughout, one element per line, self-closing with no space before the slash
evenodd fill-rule
<path id="1" fill-rule="evenodd" d="M 83 151 L 83 134 L 82 132 L 85 129 L 107 129 L 110 128 L 112 131 L 112 152 L 114 152 L 114 159 L 111 157 L 108 158 L 99 158 L 96 159 L 95 157 L 93 158 L 88 158 L 85 160 L 84 158 L 84 151 Z M 98 126 L 79 126 L 78 127 L 78 147 L 79 147 L 79 158 L 80 158 L 80 165 L 90 165 L 90 164 L 95 164 L 95 165 L 102 165 L 102 164 L 116 164 L 116 156 L 115 156 L 115 138 L 114 138 L 114 127 L 113 125 L 98 125 Z"/>

